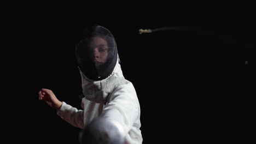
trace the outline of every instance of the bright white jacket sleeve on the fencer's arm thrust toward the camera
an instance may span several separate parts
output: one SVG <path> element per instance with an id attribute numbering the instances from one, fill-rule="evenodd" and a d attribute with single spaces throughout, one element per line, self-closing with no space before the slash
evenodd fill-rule
<path id="1" fill-rule="evenodd" d="M 127 135 L 139 116 L 139 103 L 134 87 L 117 87 L 110 95 L 109 101 L 102 111 L 102 116 L 118 122 L 123 134 Z"/>

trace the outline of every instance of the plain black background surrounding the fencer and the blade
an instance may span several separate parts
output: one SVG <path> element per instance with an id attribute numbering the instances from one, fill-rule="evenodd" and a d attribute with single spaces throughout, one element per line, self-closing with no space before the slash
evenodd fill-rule
<path id="1" fill-rule="evenodd" d="M 51 89 L 60 100 L 80 108 L 82 89 L 74 46 L 80 30 L 92 24 L 108 28 L 117 41 L 123 74 L 135 86 L 141 104 L 143 143 L 251 139 L 256 123 L 256 29 L 250 5 L 160 1 L 6 4 L 2 140 L 78 143 L 80 129 L 39 101 L 37 93 L 41 88 Z M 141 28 L 177 26 L 207 29 L 216 35 L 138 33 Z M 231 41 L 220 42 L 220 34 Z"/>

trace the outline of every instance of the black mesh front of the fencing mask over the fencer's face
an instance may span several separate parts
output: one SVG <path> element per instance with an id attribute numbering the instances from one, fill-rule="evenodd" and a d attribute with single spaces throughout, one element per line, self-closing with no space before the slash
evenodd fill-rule
<path id="1" fill-rule="evenodd" d="M 91 80 L 106 79 L 117 63 L 117 45 L 113 35 L 102 26 L 86 31 L 76 47 L 78 67 Z"/>

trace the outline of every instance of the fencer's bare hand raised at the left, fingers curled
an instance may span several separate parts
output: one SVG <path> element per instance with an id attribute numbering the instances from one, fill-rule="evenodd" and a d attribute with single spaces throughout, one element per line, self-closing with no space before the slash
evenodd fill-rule
<path id="1" fill-rule="evenodd" d="M 60 109 L 62 102 L 56 98 L 53 91 L 51 91 L 50 89 L 42 88 L 38 92 L 38 94 L 39 94 L 39 100 L 44 100 L 48 105 L 50 105 L 56 110 Z"/>

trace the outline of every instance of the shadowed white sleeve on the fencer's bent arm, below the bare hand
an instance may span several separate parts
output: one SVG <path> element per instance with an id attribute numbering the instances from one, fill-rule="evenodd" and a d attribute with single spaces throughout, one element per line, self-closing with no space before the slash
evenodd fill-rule
<path id="1" fill-rule="evenodd" d="M 59 110 L 57 110 L 57 115 L 59 115 L 66 122 L 70 123 L 74 127 L 84 128 L 84 111 L 77 110 L 77 108 L 66 104 L 64 101 Z"/>

